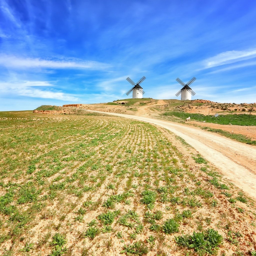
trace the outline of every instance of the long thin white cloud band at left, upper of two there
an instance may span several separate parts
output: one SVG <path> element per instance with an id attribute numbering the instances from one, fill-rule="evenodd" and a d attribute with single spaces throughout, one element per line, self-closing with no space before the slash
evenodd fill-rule
<path id="1" fill-rule="evenodd" d="M 48 68 L 48 69 L 106 69 L 110 67 L 106 63 L 80 59 L 40 59 L 22 58 L 10 55 L 0 57 L 0 65 L 8 68 Z"/>

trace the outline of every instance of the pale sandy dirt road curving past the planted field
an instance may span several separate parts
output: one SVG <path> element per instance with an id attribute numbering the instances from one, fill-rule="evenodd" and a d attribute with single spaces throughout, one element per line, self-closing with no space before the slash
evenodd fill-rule
<path id="1" fill-rule="evenodd" d="M 87 110 L 92 111 L 92 110 Z M 177 124 L 144 116 L 111 114 L 159 125 L 182 137 L 204 158 L 219 168 L 232 183 L 256 199 L 256 147 L 230 140 L 218 134 L 197 127 Z"/>

